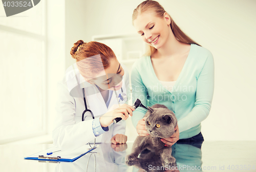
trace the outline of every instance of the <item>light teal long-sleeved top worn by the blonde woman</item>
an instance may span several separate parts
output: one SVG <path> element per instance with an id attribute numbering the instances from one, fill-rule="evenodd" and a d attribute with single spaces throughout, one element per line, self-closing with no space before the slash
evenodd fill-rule
<path id="1" fill-rule="evenodd" d="M 200 133 L 201 121 L 209 114 L 214 93 L 214 58 L 210 51 L 191 44 L 172 92 L 157 79 L 150 56 L 142 57 L 134 63 L 131 81 L 133 102 L 140 99 L 146 106 L 162 104 L 175 113 L 180 139 Z M 134 127 L 144 117 L 145 112 L 141 107 L 133 112 Z"/>

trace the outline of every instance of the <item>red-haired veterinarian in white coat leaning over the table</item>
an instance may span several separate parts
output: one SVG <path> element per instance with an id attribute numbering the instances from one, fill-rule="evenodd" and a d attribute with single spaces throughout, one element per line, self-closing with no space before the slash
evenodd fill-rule
<path id="1" fill-rule="evenodd" d="M 88 52 L 90 57 L 84 57 L 89 56 Z M 93 58 L 92 52 L 96 54 Z M 95 138 L 96 143 L 125 143 L 125 120 L 135 110 L 120 98 L 122 93 L 130 96 L 128 72 L 117 61 L 111 48 L 99 42 L 84 43 L 79 40 L 72 47 L 71 55 L 77 63 L 67 70 L 65 78 L 58 83 L 54 144 L 61 150 L 73 150 L 94 142 Z M 101 60 L 102 66 L 97 64 L 95 67 L 94 62 Z M 105 61 L 109 61 L 109 66 L 105 67 Z M 83 70 L 88 66 L 87 70 Z M 88 70 L 90 67 L 91 70 Z M 82 121 L 82 113 L 86 109 L 82 88 L 87 108 L 93 112 L 95 119 L 90 112 L 86 112 Z M 113 124 L 116 117 L 123 120 Z"/>

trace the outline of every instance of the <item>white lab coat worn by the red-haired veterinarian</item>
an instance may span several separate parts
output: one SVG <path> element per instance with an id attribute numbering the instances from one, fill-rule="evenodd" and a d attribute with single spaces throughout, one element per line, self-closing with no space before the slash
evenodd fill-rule
<path id="1" fill-rule="evenodd" d="M 123 65 L 122 67 L 124 69 L 122 89 L 127 94 L 129 100 L 131 92 L 129 73 Z M 125 134 L 126 123 L 125 120 L 121 120 L 117 124 L 111 124 L 108 132 L 97 137 L 94 135 L 91 114 L 86 113 L 85 120 L 82 121 L 81 119 L 82 113 L 85 110 L 82 88 L 86 92 L 87 107 L 93 112 L 95 118 L 105 114 L 108 110 L 111 110 L 113 105 L 118 104 L 119 98 L 117 99 L 116 93 L 113 91 L 109 108 L 107 108 L 98 88 L 94 84 L 86 82 L 76 66 L 73 65 L 73 68 L 66 72 L 66 76 L 58 82 L 57 114 L 52 136 L 53 143 L 61 150 L 74 150 L 88 142 L 94 142 L 94 138 L 96 138 L 96 143 L 111 142 L 111 138 L 114 135 Z M 73 92 L 72 95 L 70 95 L 70 91 Z M 116 92 L 119 95 L 121 89 Z M 77 97 L 78 95 L 79 97 Z M 124 103 L 124 101 L 119 102 L 120 105 Z"/>

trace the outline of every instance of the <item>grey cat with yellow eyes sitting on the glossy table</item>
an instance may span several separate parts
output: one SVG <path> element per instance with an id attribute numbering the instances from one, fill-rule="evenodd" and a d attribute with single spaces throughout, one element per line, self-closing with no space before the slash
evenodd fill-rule
<path id="1" fill-rule="evenodd" d="M 173 111 L 169 110 L 164 105 L 155 104 L 148 107 L 145 117 L 145 126 L 148 134 L 145 137 L 138 136 L 134 141 L 132 153 L 126 156 L 126 163 L 134 161 L 144 149 L 155 152 L 160 156 L 162 165 L 170 165 L 175 163 L 175 158 L 172 157 L 172 147 L 164 146 L 161 138 L 172 136 L 177 125 L 177 118 Z"/>

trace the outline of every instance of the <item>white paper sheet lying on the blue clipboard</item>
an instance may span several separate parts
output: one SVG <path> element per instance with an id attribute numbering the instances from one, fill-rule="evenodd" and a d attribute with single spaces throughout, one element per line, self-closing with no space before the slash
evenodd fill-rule
<path id="1" fill-rule="evenodd" d="M 44 157 L 60 157 L 60 159 L 58 159 L 56 161 L 74 161 L 74 160 L 78 159 L 79 157 L 85 155 L 86 153 L 90 152 L 91 151 L 90 148 L 91 147 L 89 145 L 83 145 L 80 148 L 73 150 L 73 151 L 59 151 L 60 149 L 55 146 L 55 147 L 49 148 L 45 151 L 41 151 L 36 154 L 30 155 L 30 156 L 26 157 L 25 159 L 40 160 L 40 159 L 38 159 L 38 156 L 44 156 Z M 53 153 L 51 155 L 47 155 L 47 153 L 55 152 L 55 151 L 59 151 L 59 152 Z"/>

